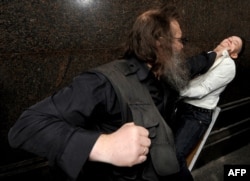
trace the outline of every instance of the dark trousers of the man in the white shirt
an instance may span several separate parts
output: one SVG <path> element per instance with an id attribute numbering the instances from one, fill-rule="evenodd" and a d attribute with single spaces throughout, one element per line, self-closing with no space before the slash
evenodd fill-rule
<path id="1" fill-rule="evenodd" d="M 186 158 L 196 146 L 212 121 L 212 110 L 181 103 L 176 112 L 174 135 L 180 175 L 185 181 L 193 180 Z M 182 179 L 180 179 L 182 180 Z"/>

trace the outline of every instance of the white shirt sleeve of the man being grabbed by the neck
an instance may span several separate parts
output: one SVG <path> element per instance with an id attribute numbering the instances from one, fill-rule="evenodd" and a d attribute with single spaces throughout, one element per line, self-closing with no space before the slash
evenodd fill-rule
<path id="1" fill-rule="evenodd" d="M 234 61 L 230 58 L 225 58 L 218 66 L 209 70 L 207 74 L 191 80 L 187 88 L 182 90 L 180 94 L 182 97 L 201 99 L 210 92 L 225 87 L 234 79 L 235 74 Z"/>

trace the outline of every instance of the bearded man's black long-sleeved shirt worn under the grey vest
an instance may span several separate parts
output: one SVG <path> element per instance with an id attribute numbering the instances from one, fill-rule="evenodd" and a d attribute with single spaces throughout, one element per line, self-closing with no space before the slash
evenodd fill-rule
<path id="1" fill-rule="evenodd" d="M 201 58 L 190 61 L 194 74 L 214 61 L 206 56 Z M 178 93 L 158 81 L 145 64 L 135 59 L 128 60 L 130 63 L 136 65 L 139 81 L 147 87 L 157 109 L 168 122 Z M 90 180 L 94 177 L 105 180 L 103 175 L 111 171 L 115 175 L 121 168 L 90 163 L 88 155 L 101 133 L 111 133 L 124 123 L 117 96 L 107 78 L 99 73 L 85 72 L 68 87 L 24 111 L 8 136 L 12 147 L 47 158 L 72 180 L 92 173 L 89 169 L 93 165 L 98 174 Z"/>

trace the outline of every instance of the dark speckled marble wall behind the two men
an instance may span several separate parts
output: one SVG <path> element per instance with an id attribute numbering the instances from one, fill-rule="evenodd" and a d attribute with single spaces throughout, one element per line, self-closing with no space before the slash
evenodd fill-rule
<path id="1" fill-rule="evenodd" d="M 173 0 L 183 15 L 190 54 L 230 35 L 250 39 L 249 0 Z M 1 0 L 0 166 L 22 160 L 7 132 L 22 111 L 83 70 L 115 59 L 135 17 L 167 0 Z M 221 103 L 250 95 L 249 42 Z"/>

